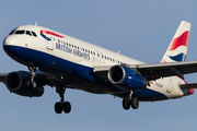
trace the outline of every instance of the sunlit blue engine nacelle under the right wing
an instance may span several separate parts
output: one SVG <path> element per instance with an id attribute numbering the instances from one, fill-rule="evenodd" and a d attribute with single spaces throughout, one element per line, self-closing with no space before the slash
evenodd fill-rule
<path id="1" fill-rule="evenodd" d="M 112 84 L 125 90 L 144 90 L 148 81 L 137 71 L 125 66 L 114 66 L 108 71 L 108 80 Z"/>

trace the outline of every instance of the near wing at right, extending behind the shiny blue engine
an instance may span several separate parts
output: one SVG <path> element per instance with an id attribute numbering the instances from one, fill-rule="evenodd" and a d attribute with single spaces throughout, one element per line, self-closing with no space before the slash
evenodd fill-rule
<path id="1" fill-rule="evenodd" d="M 184 61 L 184 62 L 169 62 L 169 63 L 153 63 L 153 64 L 127 64 L 126 67 L 135 69 L 148 81 L 157 80 L 160 78 L 178 75 L 184 79 L 183 74 L 197 72 L 197 61 Z M 107 72 L 112 68 L 108 67 L 95 67 L 93 72 L 95 75 L 102 79 L 107 78 Z"/>

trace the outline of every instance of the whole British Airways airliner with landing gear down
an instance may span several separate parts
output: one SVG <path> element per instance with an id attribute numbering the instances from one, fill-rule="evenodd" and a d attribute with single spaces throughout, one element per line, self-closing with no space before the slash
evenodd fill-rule
<path id="1" fill-rule="evenodd" d="M 30 71 L 1 73 L 0 82 L 22 96 L 39 97 L 44 86 L 56 87 L 60 102 L 57 114 L 70 112 L 66 88 L 123 98 L 123 108 L 194 94 L 197 84 L 184 74 L 197 72 L 197 61 L 185 61 L 190 23 L 179 24 L 160 63 L 146 64 L 132 58 L 37 25 L 14 28 L 4 38 L 3 49 Z"/>

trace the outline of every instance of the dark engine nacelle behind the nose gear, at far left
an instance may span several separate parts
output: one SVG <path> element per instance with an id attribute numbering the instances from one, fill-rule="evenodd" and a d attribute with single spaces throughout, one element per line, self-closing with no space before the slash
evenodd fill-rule
<path id="1" fill-rule="evenodd" d="M 10 92 L 18 95 L 38 97 L 44 93 L 44 87 L 39 86 L 38 83 L 36 87 L 32 87 L 30 85 L 31 76 L 21 71 L 9 73 L 5 78 L 4 83 Z"/>

